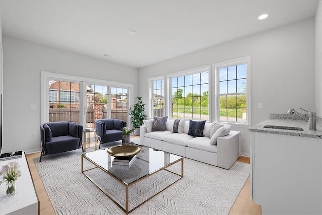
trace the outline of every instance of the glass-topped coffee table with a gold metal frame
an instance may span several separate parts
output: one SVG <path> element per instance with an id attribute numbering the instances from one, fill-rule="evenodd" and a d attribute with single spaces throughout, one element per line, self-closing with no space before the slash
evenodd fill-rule
<path id="1" fill-rule="evenodd" d="M 82 173 L 129 214 L 183 177 L 183 158 L 146 146 L 129 165 L 113 165 L 107 149 L 82 154 Z"/>

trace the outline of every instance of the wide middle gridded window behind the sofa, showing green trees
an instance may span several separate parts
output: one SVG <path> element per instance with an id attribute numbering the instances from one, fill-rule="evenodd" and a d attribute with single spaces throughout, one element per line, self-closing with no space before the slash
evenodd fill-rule
<path id="1" fill-rule="evenodd" d="M 171 77 L 171 118 L 209 120 L 209 67 Z"/>

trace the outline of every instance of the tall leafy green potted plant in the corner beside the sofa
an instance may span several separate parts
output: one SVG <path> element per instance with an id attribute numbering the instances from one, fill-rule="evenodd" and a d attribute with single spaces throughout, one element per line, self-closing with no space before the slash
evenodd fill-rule
<path id="1" fill-rule="evenodd" d="M 132 125 L 135 129 L 135 134 L 139 134 L 139 128 L 143 124 L 143 120 L 145 119 L 145 104 L 142 101 L 142 97 L 136 97 L 136 103 L 130 107 L 130 118 Z"/>

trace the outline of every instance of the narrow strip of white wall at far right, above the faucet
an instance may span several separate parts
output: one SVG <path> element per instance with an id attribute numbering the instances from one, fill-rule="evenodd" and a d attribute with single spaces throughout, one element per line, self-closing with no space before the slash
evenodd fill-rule
<path id="1" fill-rule="evenodd" d="M 322 117 L 322 0 L 315 15 L 315 85 L 316 114 Z"/>

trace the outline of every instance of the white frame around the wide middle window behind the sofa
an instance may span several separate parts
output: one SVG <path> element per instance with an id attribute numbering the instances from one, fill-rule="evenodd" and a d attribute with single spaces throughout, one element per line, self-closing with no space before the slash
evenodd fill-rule
<path id="1" fill-rule="evenodd" d="M 192 68 L 192 69 L 187 69 L 187 70 L 183 70 L 183 71 L 178 71 L 176 73 L 171 73 L 171 74 L 167 74 L 166 75 L 166 81 L 167 81 L 167 86 L 165 87 L 165 89 L 167 89 L 167 94 L 165 93 L 165 95 L 168 96 L 168 98 L 165 98 L 165 101 L 167 101 L 167 115 L 166 116 L 170 116 L 171 113 L 171 101 L 172 101 L 172 95 L 171 95 L 171 79 L 173 77 L 178 77 L 178 76 L 185 76 L 185 75 L 190 75 L 190 74 L 196 74 L 196 73 L 202 73 L 203 71 L 208 71 L 208 86 L 209 86 L 209 96 L 208 96 L 208 120 L 207 121 L 212 121 L 212 118 L 214 116 L 214 112 L 213 112 L 213 108 L 211 108 L 211 104 L 212 104 L 212 92 L 213 92 L 213 86 L 211 83 L 212 80 L 212 70 L 211 70 L 211 65 L 205 65 L 205 66 L 201 66 L 201 67 L 197 67 L 197 68 Z"/>

